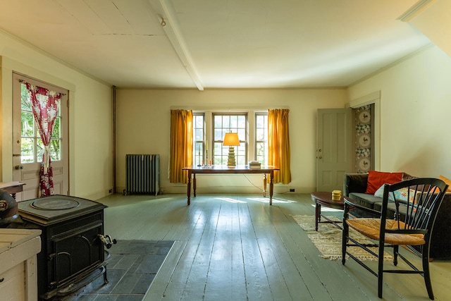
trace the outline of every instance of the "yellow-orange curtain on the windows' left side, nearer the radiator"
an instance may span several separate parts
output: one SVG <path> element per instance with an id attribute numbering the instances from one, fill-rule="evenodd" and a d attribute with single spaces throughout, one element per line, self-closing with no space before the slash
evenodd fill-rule
<path id="1" fill-rule="evenodd" d="M 171 110 L 171 183 L 188 183 L 185 166 L 192 165 L 192 111 Z"/>

